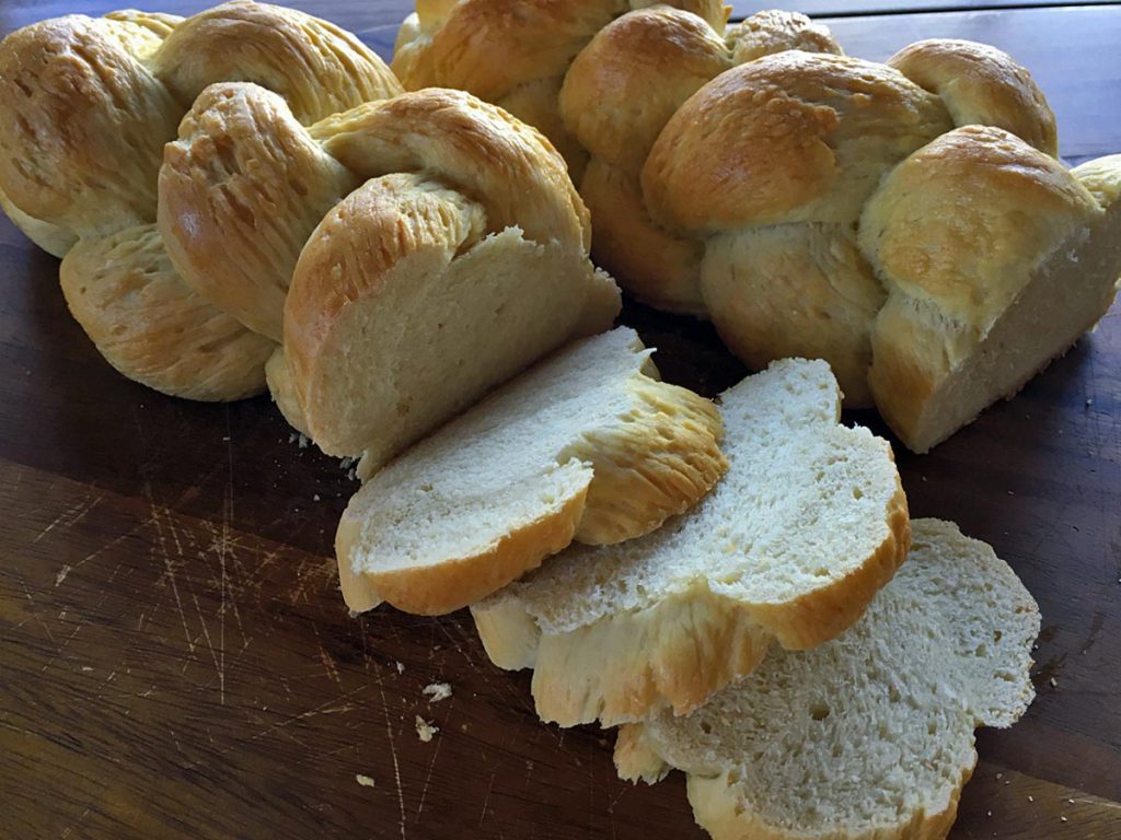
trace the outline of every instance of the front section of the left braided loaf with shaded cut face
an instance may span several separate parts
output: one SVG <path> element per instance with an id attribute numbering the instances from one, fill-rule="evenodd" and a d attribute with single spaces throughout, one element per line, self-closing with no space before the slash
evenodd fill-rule
<path id="1" fill-rule="evenodd" d="M 159 195 L 180 273 L 231 311 L 268 312 L 277 403 L 324 451 L 363 454 L 363 478 L 619 312 L 564 160 L 461 91 L 305 128 L 263 87 L 212 85 Z"/>

